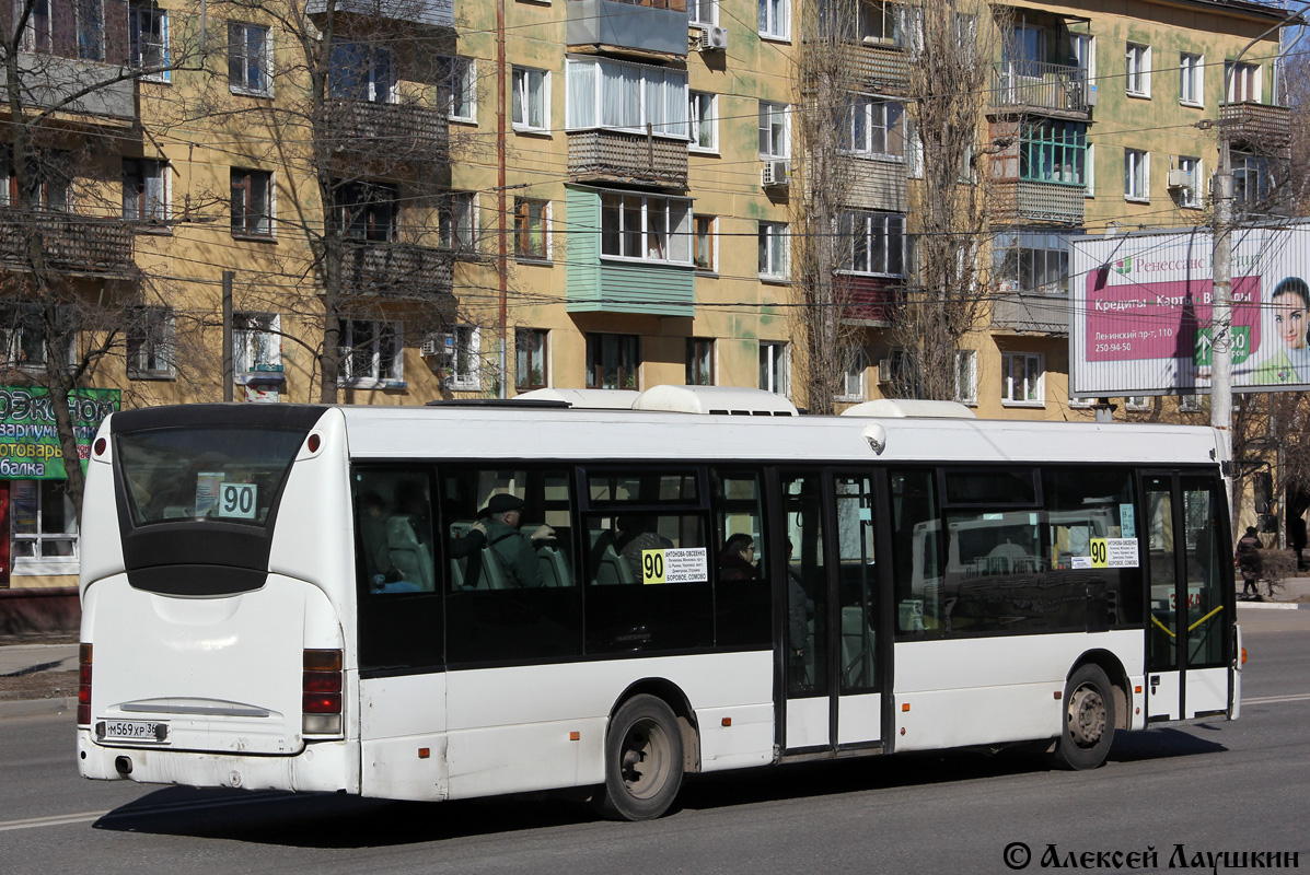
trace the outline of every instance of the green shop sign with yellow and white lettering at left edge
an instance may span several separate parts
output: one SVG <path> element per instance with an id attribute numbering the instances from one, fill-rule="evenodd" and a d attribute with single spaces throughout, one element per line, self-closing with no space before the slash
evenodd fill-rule
<path id="1" fill-rule="evenodd" d="M 118 389 L 77 389 L 68 397 L 68 413 L 77 436 L 83 470 L 100 423 L 119 409 Z M 41 386 L 0 388 L 0 477 L 12 479 L 66 479 L 64 455 L 50 392 Z"/>

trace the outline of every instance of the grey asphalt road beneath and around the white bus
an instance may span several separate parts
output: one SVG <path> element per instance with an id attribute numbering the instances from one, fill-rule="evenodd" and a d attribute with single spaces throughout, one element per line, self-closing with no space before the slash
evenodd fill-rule
<path id="1" fill-rule="evenodd" d="M 0 872 L 1010 872 L 1017 842 L 1030 872 L 1072 868 L 1070 853 L 1078 870 L 1197 868 L 1197 854 L 1224 851 L 1294 851 L 1310 868 L 1310 612 L 1242 624 L 1242 719 L 1120 734 L 1095 772 L 1020 753 L 757 769 L 689 778 L 679 808 L 647 824 L 549 796 L 413 804 L 89 782 L 67 718 L 0 720 Z"/>

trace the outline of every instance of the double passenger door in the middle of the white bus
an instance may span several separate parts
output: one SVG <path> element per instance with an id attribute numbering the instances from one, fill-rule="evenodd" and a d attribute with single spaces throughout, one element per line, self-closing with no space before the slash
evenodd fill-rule
<path id="1" fill-rule="evenodd" d="M 782 474 L 787 752 L 882 739 L 874 495 L 867 475 Z"/>

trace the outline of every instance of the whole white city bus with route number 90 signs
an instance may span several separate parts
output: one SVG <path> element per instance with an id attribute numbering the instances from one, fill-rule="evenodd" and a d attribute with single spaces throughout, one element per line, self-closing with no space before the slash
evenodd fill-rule
<path id="1" fill-rule="evenodd" d="M 81 773 L 590 787 L 646 819 L 688 772 L 1024 741 L 1094 768 L 1116 730 L 1237 717 L 1212 430 L 647 394 L 710 413 L 113 414 L 85 493 Z"/>

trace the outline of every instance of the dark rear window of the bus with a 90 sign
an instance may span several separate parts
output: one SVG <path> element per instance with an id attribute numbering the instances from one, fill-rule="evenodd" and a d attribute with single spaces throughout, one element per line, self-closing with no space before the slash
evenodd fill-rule
<path id="1" fill-rule="evenodd" d="M 263 525 L 303 431 L 159 428 L 115 436 L 132 523 Z"/>

